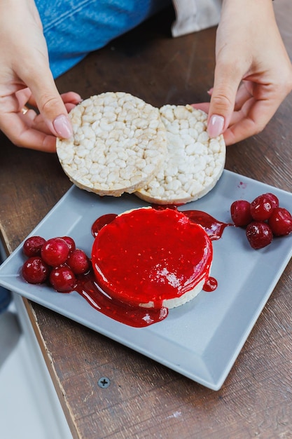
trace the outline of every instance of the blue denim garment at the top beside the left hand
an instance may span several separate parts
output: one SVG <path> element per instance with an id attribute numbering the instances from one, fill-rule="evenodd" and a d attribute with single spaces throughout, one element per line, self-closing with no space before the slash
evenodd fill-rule
<path id="1" fill-rule="evenodd" d="M 171 0 L 36 0 L 56 78 Z"/>

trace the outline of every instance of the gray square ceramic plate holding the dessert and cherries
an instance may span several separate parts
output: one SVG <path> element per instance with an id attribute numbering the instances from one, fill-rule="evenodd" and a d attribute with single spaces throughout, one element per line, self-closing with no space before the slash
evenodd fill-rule
<path id="1" fill-rule="evenodd" d="M 292 194 L 227 170 L 207 196 L 179 209 L 203 210 L 230 222 L 232 201 L 252 201 L 265 192 L 273 192 L 281 207 L 291 210 Z M 90 255 L 91 226 L 97 217 L 143 205 L 146 203 L 134 195 L 99 197 L 73 186 L 30 236 L 71 236 Z M 0 285 L 218 390 L 292 256 L 292 236 L 275 238 L 266 248 L 253 250 L 243 229 L 227 227 L 213 245 L 211 275 L 218 288 L 202 291 L 188 304 L 169 310 L 165 320 L 143 328 L 104 316 L 77 292 L 62 294 L 25 283 L 19 274 L 25 260 L 22 245 L 1 265 Z"/>

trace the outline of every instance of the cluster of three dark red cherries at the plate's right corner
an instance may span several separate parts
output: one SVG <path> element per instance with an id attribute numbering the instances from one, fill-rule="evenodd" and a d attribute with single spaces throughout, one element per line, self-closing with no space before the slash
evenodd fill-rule
<path id="1" fill-rule="evenodd" d="M 274 236 L 286 236 L 292 232 L 292 215 L 279 207 L 279 199 L 267 192 L 251 203 L 237 200 L 230 206 L 232 221 L 237 227 L 246 227 L 246 238 L 252 248 L 266 247 Z"/>

